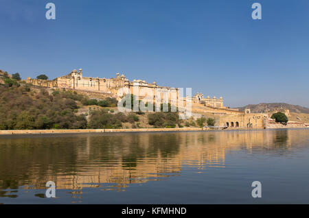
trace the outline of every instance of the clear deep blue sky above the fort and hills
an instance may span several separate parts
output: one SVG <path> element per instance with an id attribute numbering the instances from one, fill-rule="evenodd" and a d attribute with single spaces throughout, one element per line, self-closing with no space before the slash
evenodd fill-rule
<path id="1" fill-rule="evenodd" d="M 45 5 L 56 5 L 56 20 Z M 262 5 L 262 20 L 251 5 Z M 308 0 L 0 0 L 0 69 L 141 79 L 309 107 Z"/>

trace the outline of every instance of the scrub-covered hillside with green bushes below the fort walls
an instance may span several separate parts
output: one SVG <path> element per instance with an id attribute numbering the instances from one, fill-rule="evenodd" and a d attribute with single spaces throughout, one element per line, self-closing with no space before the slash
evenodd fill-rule
<path id="1" fill-rule="evenodd" d="M 181 122 L 177 112 L 119 112 L 111 97 L 93 99 L 14 79 L 0 83 L 0 130 L 176 128 Z"/>

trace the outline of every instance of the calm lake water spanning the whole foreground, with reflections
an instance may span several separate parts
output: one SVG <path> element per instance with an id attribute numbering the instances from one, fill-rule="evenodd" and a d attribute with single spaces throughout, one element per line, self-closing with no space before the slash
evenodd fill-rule
<path id="1" fill-rule="evenodd" d="M 308 129 L 0 136 L 0 203 L 309 204 L 308 168 Z"/>

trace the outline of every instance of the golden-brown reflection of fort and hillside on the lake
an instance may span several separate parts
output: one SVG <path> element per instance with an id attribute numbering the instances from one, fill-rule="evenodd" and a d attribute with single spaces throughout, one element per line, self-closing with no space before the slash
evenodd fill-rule
<path id="1" fill-rule="evenodd" d="M 304 144 L 308 130 L 2 136 L 0 197 L 45 189 L 47 181 L 77 198 L 84 188 L 124 191 L 133 183 L 181 175 L 183 167 L 196 173 L 226 167 L 228 152 L 286 155 Z"/>

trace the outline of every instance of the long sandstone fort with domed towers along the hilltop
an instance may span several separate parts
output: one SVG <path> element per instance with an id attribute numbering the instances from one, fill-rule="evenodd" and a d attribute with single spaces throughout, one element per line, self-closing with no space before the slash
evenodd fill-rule
<path id="1" fill-rule="evenodd" d="M 34 86 L 46 88 L 62 88 L 87 91 L 88 93 L 106 93 L 113 95 L 117 99 L 124 96 L 121 90 L 128 90 L 133 93 L 134 88 L 139 89 L 139 97 L 146 97 L 148 92 L 154 93 L 156 90 L 164 89 L 169 96 L 176 95 L 179 99 L 179 88 L 170 88 L 159 86 L 156 82 L 148 83 L 145 80 L 130 81 L 124 74 L 116 73 L 113 78 L 84 77 L 82 69 L 74 69 L 71 73 L 56 77 L 54 80 L 38 80 L 27 77 L 27 83 Z M 182 97 L 184 102 L 192 102 L 192 117 L 195 119 L 201 117 L 212 117 L 216 119 L 216 125 L 225 128 L 267 128 L 274 124 L 267 112 L 251 112 L 250 108 L 244 108 L 244 111 L 224 106 L 223 98 L 204 97 L 203 93 L 196 93 L 193 97 Z M 286 114 L 289 116 L 289 112 Z M 291 124 L 292 125 L 292 124 Z M 305 127 L 305 123 L 293 123 L 297 127 Z"/>

